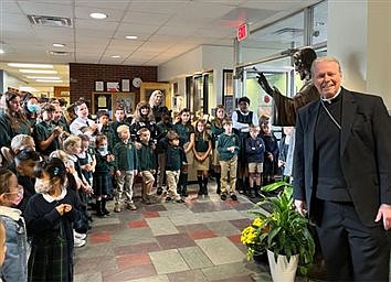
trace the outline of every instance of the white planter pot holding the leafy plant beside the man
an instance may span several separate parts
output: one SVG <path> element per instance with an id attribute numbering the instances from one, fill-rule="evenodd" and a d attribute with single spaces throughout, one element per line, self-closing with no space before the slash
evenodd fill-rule
<path id="1" fill-rule="evenodd" d="M 279 256 L 277 262 L 274 259 L 274 252 L 267 250 L 268 265 L 274 282 L 295 282 L 298 264 L 298 254 L 292 256 L 288 262 L 286 256 Z"/>

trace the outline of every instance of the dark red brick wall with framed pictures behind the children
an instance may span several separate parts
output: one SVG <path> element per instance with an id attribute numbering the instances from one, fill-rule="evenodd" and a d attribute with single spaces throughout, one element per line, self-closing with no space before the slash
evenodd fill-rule
<path id="1" fill-rule="evenodd" d="M 96 65 L 96 64 L 70 64 L 71 102 L 83 97 L 91 106 L 91 96 L 95 90 L 95 82 L 118 82 L 121 78 L 130 79 L 130 91 L 135 93 L 136 102 L 140 97 L 140 88 L 131 85 L 134 77 L 140 77 L 142 82 L 156 83 L 158 79 L 157 66 L 124 66 L 124 65 Z"/>

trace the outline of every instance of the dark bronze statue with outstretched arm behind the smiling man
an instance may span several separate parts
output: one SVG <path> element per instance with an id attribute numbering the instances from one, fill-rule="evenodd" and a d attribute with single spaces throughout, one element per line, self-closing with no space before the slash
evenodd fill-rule
<path id="1" fill-rule="evenodd" d="M 274 99 L 273 124 L 295 126 L 296 112 L 304 105 L 319 99 L 319 94 L 311 80 L 310 66 L 316 58 L 313 48 L 303 48 L 294 55 L 295 70 L 300 75 L 304 85 L 294 97 L 286 97 L 276 87 L 271 87 L 263 73 L 258 73 L 257 79 L 261 87 Z"/>

